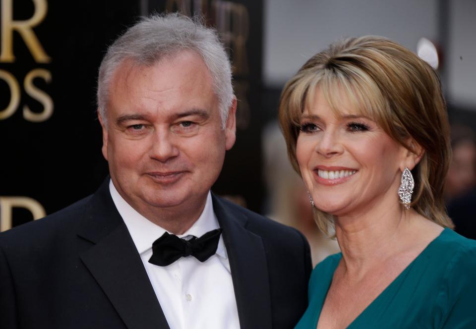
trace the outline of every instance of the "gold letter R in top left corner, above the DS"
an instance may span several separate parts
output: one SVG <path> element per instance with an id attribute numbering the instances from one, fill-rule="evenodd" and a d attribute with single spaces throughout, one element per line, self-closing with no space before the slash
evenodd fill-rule
<path id="1" fill-rule="evenodd" d="M 46 54 L 38 37 L 33 32 L 33 27 L 40 24 L 48 12 L 46 0 L 33 0 L 35 13 L 24 21 L 13 20 L 13 0 L 1 0 L 1 53 L 0 62 L 12 63 L 13 55 L 13 31 L 17 31 L 30 50 L 37 63 L 49 63 L 51 57 Z"/>

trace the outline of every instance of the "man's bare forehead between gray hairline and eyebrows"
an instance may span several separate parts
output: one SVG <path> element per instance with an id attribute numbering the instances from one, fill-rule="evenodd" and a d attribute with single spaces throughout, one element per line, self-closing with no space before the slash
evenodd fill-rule
<path id="1" fill-rule="evenodd" d="M 208 68 L 195 52 L 164 57 L 151 65 L 128 58 L 112 82 L 109 106 L 113 120 L 141 115 L 151 121 L 170 121 L 192 114 L 207 118 L 219 114 Z"/>

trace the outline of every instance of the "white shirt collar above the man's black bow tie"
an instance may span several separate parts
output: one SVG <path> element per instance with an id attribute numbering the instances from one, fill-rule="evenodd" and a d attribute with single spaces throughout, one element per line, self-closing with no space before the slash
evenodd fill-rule
<path id="1" fill-rule="evenodd" d="M 168 232 L 166 229 L 154 224 L 152 221 L 146 219 L 139 214 L 134 208 L 132 208 L 119 194 L 118 190 L 113 184 L 113 181 L 109 181 L 109 191 L 113 202 L 118 209 L 120 217 L 124 221 L 129 234 L 132 237 L 132 241 L 137 248 L 139 254 L 143 254 L 152 249 L 152 243 L 161 237 L 164 232 Z M 187 235 L 194 235 L 200 237 L 208 231 L 219 228 L 218 219 L 213 211 L 212 196 L 208 191 L 205 207 L 203 208 L 200 217 L 193 223 L 193 225 L 179 237 L 185 237 Z M 170 233 L 170 232 L 168 232 Z M 227 259 L 228 255 L 223 242 L 223 236 L 220 236 L 218 242 L 217 255 Z"/>

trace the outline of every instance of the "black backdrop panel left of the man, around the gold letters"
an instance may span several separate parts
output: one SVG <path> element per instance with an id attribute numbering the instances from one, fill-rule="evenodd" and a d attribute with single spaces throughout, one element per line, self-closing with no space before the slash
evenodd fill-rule
<path id="1" fill-rule="evenodd" d="M 106 46 L 133 22 L 138 9 L 134 1 L 108 6 L 86 0 L 72 7 L 49 1 L 45 19 L 33 29 L 51 57 L 49 63 L 35 62 L 20 35 L 13 33 L 16 60 L 0 63 L 0 69 L 15 75 L 22 91 L 18 110 L 0 120 L 0 196 L 28 196 L 50 214 L 93 192 L 106 176 L 95 112 L 96 72 Z M 34 10 L 31 0 L 13 1 L 15 20 L 30 18 Z M 23 79 L 37 68 L 51 73 L 51 83 L 37 78 L 34 84 L 53 99 L 54 112 L 46 121 L 30 122 L 22 107 L 41 112 L 43 105 L 27 95 Z M 2 105 L 8 103 L 6 91 Z M 14 211 L 13 225 L 27 220 L 31 214 Z"/>

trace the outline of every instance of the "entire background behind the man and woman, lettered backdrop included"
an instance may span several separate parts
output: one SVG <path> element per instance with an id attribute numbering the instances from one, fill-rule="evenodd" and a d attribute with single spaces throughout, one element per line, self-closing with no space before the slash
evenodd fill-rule
<path id="1" fill-rule="evenodd" d="M 282 87 L 329 43 L 382 35 L 440 73 L 452 123 L 447 203 L 475 238 L 476 0 L 0 0 L 0 230 L 93 193 L 107 176 L 96 116 L 107 46 L 141 15 L 181 11 L 215 26 L 234 65 L 238 141 L 213 190 L 338 250 L 315 228 L 276 122 Z M 461 218 L 464 218 L 462 220 Z"/>

